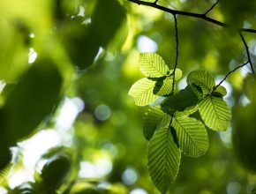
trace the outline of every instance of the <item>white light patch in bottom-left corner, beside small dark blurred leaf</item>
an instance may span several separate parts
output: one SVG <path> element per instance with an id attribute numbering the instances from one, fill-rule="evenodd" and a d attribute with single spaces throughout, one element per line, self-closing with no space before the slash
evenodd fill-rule
<path id="1" fill-rule="evenodd" d="M 19 186 L 24 182 L 34 182 L 33 170 L 20 169 L 14 175 L 11 176 L 8 180 L 8 184 L 11 189 Z"/>

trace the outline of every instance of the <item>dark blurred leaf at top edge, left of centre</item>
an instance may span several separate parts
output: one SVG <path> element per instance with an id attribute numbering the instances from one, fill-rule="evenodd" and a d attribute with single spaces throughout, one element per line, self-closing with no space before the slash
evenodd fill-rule
<path id="1" fill-rule="evenodd" d="M 82 70 L 94 63 L 99 48 L 107 48 L 124 19 L 124 8 L 117 0 L 98 0 L 89 25 L 82 24 L 84 19 L 72 19 L 64 36 L 64 44 L 72 62 Z"/>

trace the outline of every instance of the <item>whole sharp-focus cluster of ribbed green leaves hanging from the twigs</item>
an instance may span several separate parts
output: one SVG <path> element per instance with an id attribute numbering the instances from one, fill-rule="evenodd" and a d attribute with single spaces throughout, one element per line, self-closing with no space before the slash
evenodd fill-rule
<path id="1" fill-rule="evenodd" d="M 200 157 L 209 145 L 207 128 L 225 131 L 229 127 L 230 108 L 222 99 L 227 92 L 223 86 L 215 86 L 215 79 L 207 71 L 192 71 L 187 86 L 174 93 L 182 71 L 169 71 L 157 54 L 140 54 L 139 69 L 147 78 L 140 79 L 129 91 L 136 105 L 164 98 L 147 110 L 143 133 L 149 141 L 149 174 L 156 188 L 165 193 L 177 176 L 181 153 Z"/>

